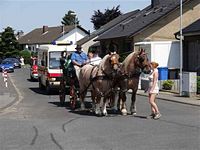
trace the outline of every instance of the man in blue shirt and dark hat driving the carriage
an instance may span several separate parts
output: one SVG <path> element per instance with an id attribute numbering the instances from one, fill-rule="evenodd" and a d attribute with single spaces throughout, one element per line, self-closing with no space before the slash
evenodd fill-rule
<path id="1" fill-rule="evenodd" d="M 71 61 L 76 70 L 76 76 L 79 79 L 80 68 L 88 63 L 87 54 L 82 51 L 80 45 L 77 45 L 76 51 L 72 53 Z"/>

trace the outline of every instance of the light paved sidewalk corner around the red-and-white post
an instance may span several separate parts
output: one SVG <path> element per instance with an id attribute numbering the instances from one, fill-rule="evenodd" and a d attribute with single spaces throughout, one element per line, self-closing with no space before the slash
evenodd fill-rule
<path id="1" fill-rule="evenodd" d="M 17 93 L 13 87 L 8 74 L 8 87 L 5 86 L 2 74 L 0 73 L 0 112 L 17 101 Z"/>

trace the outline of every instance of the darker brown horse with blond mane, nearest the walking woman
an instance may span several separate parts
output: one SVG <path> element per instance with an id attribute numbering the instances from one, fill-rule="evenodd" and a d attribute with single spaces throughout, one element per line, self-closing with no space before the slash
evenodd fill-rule
<path id="1" fill-rule="evenodd" d="M 126 92 L 132 89 L 131 97 L 131 114 L 136 114 L 136 92 L 138 90 L 139 76 L 141 72 L 150 73 L 151 67 L 145 51 L 142 49 L 138 52 L 132 52 L 122 62 L 120 67 L 121 73 L 117 80 L 120 87 L 118 109 L 122 115 L 127 115 L 126 109 Z"/>

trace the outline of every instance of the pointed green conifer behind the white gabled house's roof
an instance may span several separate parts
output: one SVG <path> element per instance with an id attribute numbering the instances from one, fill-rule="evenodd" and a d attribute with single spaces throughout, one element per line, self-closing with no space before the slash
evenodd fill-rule
<path id="1" fill-rule="evenodd" d="M 74 11 L 69 10 L 67 14 L 65 14 L 65 16 L 62 18 L 63 20 L 61 21 L 61 23 L 63 25 L 75 25 L 75 24 L 79 24 L 79 20 L 76 17 L 76 14 Z"/>

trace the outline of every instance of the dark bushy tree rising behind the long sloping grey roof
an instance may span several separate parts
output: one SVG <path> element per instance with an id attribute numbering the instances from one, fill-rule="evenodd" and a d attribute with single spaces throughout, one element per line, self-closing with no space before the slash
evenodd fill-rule
<path id="1" fill-rule="evenodd" d="M 114 18 L 121 15 L 121 11 L 119 10 L 120 5 L 116 8 L 113 7 L 112 9 L 105 9 L 105 12 L 101 12 L 100 10 L 94 11 L 94 15 L 92 15 L 91 22 L 94 25 L 94 29 L 98 30 L 104 24 L 110 22 Z"/>

